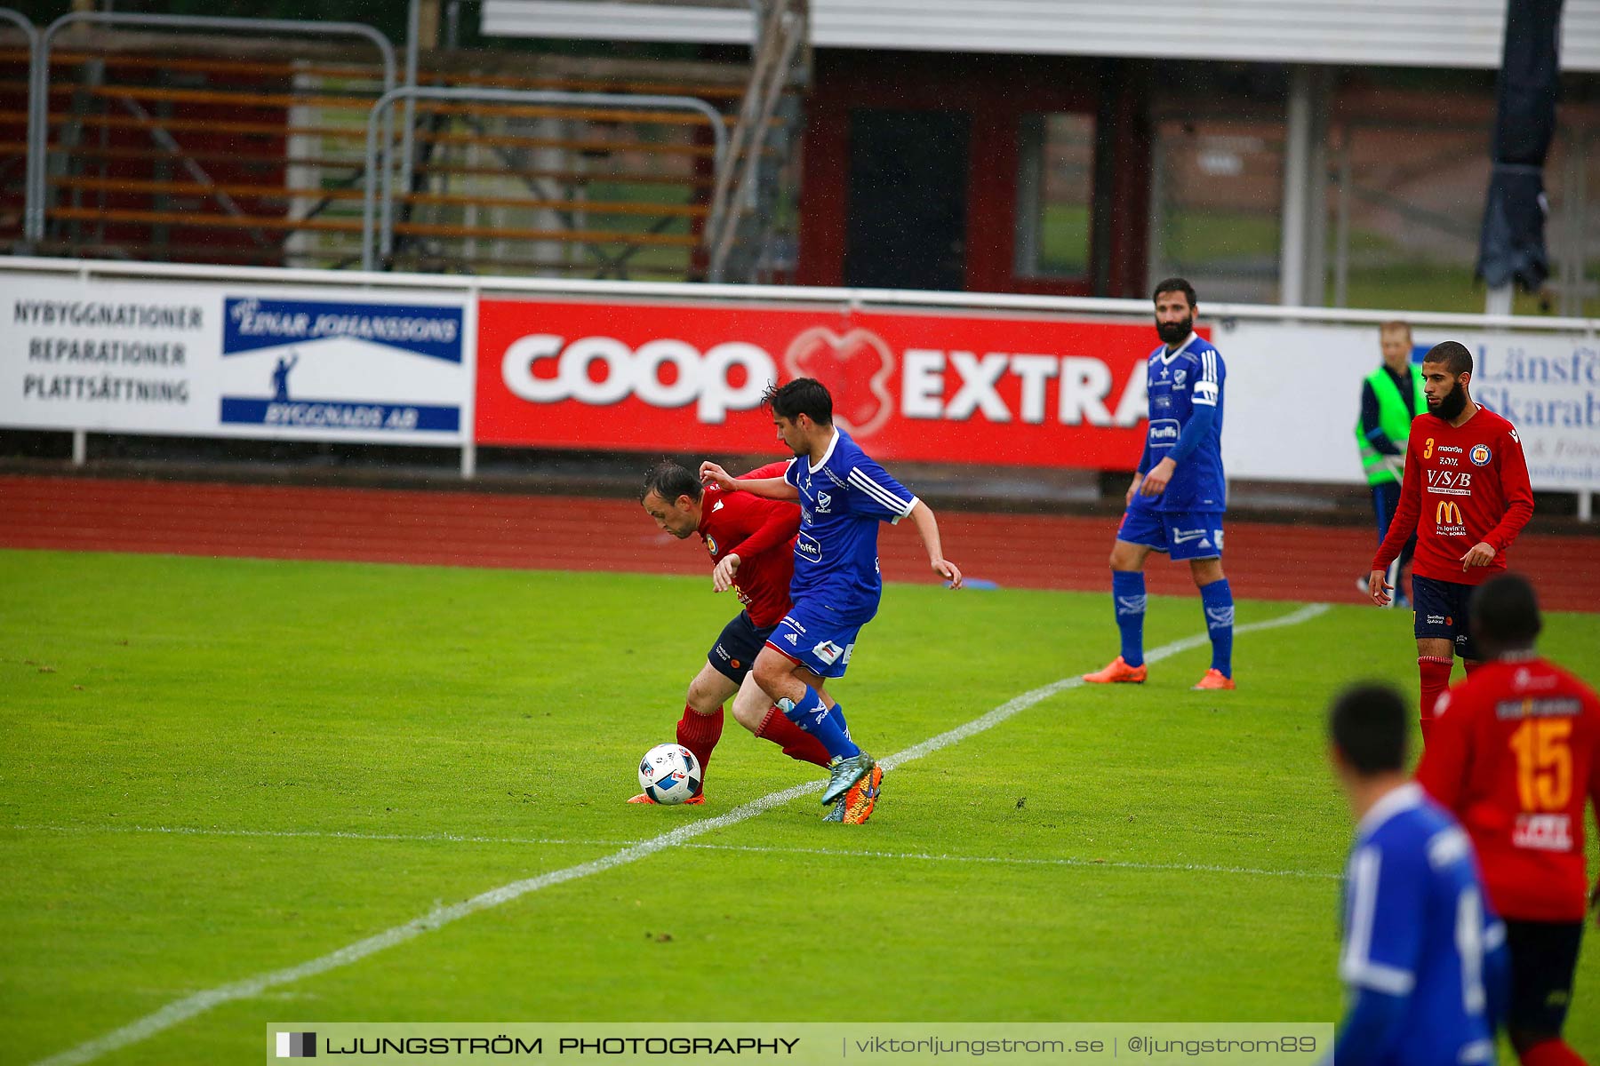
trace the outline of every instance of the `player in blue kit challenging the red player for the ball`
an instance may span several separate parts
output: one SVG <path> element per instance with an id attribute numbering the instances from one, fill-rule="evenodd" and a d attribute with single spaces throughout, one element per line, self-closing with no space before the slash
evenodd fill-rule
<path id="1" fill-rule="evenodd" d="M 944 558 L 939 523 L 926 503 L 907 492 L 848 433 L 834 425 L 834 398 L 822 382 L 800 377 L 766 392 L 778 436 L 795 454 L 782 478 L 733 479 L 717 463 L 701 465 L 701 479 L 773 500 L 800 500 L 795 535 L 794 606 L 755 658 L 755 682 L 827 748 L 832 821 L 866 821 L 877 802 L 883 769 L 850 738 L 843 708 L 821 690 L 824 678 L 842 678 L 856 634 L 878 612 L 878 524 L 910 518 L 928 550 L 933 572 L 952 588 L 962 571 Z"/>

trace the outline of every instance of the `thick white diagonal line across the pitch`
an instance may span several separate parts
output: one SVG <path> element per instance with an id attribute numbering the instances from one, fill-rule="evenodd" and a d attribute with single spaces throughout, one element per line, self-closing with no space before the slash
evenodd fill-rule
<path id="1" fill-rule="evenodd" d="M 1277 619 L 1269 619 L 1266 622 L 1251 622 L 1250 625 L 1237 626 L 1234 633 L 1235 634 L 1254 633 L 1259 630 L 1275 630 L 1288 625 L 1299 625 L 1301 622 L 1309 622 L 1317 615 L 1325 614 L 1326 611 L 1328 604 L 1309 604 L 1306 607 L 1301 607 L 1299 611 L 1293 611 Z M 1144 658 L 1146 662 L 1158 662 L 1162 658 L 1178 655 L 1179 652 L 1186 652 L 1192 647 L 1202 647 L 1208 641 L 1210 638 L 1206 634 L 1189 636 L 1181 641 L 1173 641 L 1171 644 L 1163 644 L 1162 647 L 1147 652 Z M 947 748 L 957 742 L 966 740 L 968 737 L 981 734 L 987 729 L 994 729 L 1000 722 L 1016 714 L 1021 714 L 1035 703 L 1048 700 L 1058 692 L 1075 689 L 1082 684 L 1083 684 L 1082 678 L 1066 678 L 1062 681 L 1046 684 L 1030 692 L 1024 692 L 1019 697 L 1006 700 L 1005 703 L 989 711 L 987 714 L 974 718 L 965 726 L 957 726 L 955 729 L 946 730 L 938 737 L 931 737 L 930 740 L 923 740 L 918 745 L 912 745 L 910 748 L 896 751 L 894 754 L 886 756 L 880 762 L 883 764 L 885 769 L 893 769 L 896 766 L 910 762 L 912 759 L 920 759 L 925 754 L 930 754 L 941 748 Z M 632 844 L 619 852 L 613 852 L 602 858 L 595 858 L 587 863 L 579 863 L 576 866 L 566 866 L 563 869 L 555 869 L 547 874 L 539 874 L 536 877 L 512 881 L 510 884 L 504 884 L 499 889 L 490 889 L 488 892 L 482 892 L 472 897 L 470 900 L 462 900 L 461 903 L 454 903 L 451 906 L 437 906 L 427 914 L 413 917 L 410 922 L 405 922 L 402 925 L 392 925 L 390 929 L 386 929 L 381 933 L 374 933 L 371 937 L 366 937 L 365 940 L 357 940 L 352 945 L 346 945 L 338 951 L 330 951 L 328 954 L 312 959 L 309 962 L 286 967 L 283 970 L 272 970 L 269 973 L 258 973 L 256 977 L 250 977 L 242 981 L 219 984 L 218 988 L 186 996 L 184 999 L 166 1004 L 160 1010 L 149 1013 L 144 1018 L 139 1018 L 138 1021 L 131 1021 L 122 1026 L 120 1029 L 112 1029 L 110 1032 L 98 1036 L 93 1040 L 85 1040 L 83 1044 L 70 1047 L 56 1055 L 51 1055 L 50 1058 L 42 1058 L 34 1066 L 78 1066 L 80 1063 L 93 1061 L 101 1055 L 106 1055 L 107 1052 L 115 1052 L 118 1048 L 128 1047 L 130 1044 L 147 1040 L 157 1032 L 171 1029 L 173 1026 L 181 1024 L 189 1018 L 194 1018 L 195 1015 L 202 1015 L 211 1010 L 213 1007 L 219 1007 L 222 1004 L 234 1002 L 237 999 L 251 999 L 270 988 L 277 988 L 280 984 L 293 984 L 294 981 L 301 981 L 307 977 L 315 977 L 328 970 L 336 970 L 339 967 L 350 965 L 352 962 L 360 962 L 366 956 L 378 954 L 379 951 L 394 948 L 395 945 L 403 945 L 408 940 L 414 940 L 422 933 L 442 929 L 443 925 L 448 925 L 470 914 L 477 914 L 478 911 L 486 911 L 502 903 L 510 903 L 512 900 L 518 900 L 528 895 L 530 892 L 549 889 L 552 885 L 565 884 L 568 881 L 578 881 L 579 877 L 587 877 L 589 874 L 600 874 L 608 869 L 614 869 L 618 866 L 637 861 L 640 858 L 646 858 L 669 847 L 686 844 L 696 836 L 704 836 L 706 833 L 710 833 L 714 829 L 723 829 L 731 825 L 747 821 L 749 818 L 765 813 L 773 807 L 781 807 L 782 804 L 787 804 L 790 799 L 798 799 L 800 796 L 805 796 L 808 793 L 818 793 L 822 790 L 824 783 L 826 782 L 803 782 L 800 785 L 792 785 L 776 793 L 768 793 L 760 799 L 752 799 L 747 804 L 741 804 L 725 815 L 691 821 L 690 825 L 678 826 L 677 829 L 662 833 L 661 836 L 650 837 L 648 841 L 640 841 L 638 844 Z"/>

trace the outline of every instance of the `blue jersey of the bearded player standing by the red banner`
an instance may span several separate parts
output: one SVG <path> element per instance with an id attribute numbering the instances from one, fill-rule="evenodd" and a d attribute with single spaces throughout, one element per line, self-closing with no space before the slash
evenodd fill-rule
<path id="1" fill-rule="evenodd" d="M 1197 408 L 1213 408 L 1210 432 L 1194 452 L 1178 463 L 1173 479 L 1152 503 L 1158 511 L 1227 510 L 1227 478 L 1222 475 L 1222 385 L 1227 368 L 1214 347 L 1189 334 L 1173 352 L 1155 348 L 1146 366 L 1144 388 L 1150 404 L 1150 430 L 1139 473 L 1149 473 L 1178 444 Z"/>

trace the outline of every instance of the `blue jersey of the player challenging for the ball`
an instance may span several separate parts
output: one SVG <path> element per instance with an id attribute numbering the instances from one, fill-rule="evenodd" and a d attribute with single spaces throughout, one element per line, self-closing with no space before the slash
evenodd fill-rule
<path id="1" fill-rule="evenodd" d="M 866 622 L 883 595 L 878 523 L 906 518 L 917 497 L 837 428 L 822 462 L 795 459 L 784 479 L 800 491 L 790 599 L 814 599 L 843 620 Z"/>

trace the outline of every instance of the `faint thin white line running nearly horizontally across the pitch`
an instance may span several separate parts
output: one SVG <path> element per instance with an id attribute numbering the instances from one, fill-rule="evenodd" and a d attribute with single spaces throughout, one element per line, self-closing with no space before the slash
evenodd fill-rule
<path id="1" fill-rule="evenodd" d="M 458 836 L 454 833 L 315 833 L 299 829 L 206 829 L 194 826 L 144 826 L 144 825 L 14 825 L 19 833 L 64 833 L 64 834 L 99 834 L 99 833 L 149 833 L 155 836 L 227 836 L 227 837 L 294 837 L 320 841 L 378 841 L 402 844 L 515 844 L 515 845 L 562 845 L 562 847 L 626 847 L 632 841 L 574 841 L 570 837 L 538 837 L 538 836 Z M 1208 874 L 1248 874 L 1256 877 L 1342 877 L 1339 873 L 1322 873 L 1315 869 L 1266 869 L 1258 866 L 1214 866 L 1205 863 L 1131 863 L 1115 858 L 1069 858 L 1069 857 L 1029 857 L 1029 855 L 952 855 L 941 852 L 869 852 L 840 847 L 773 847 L 765 844 L 683 844 L 686 849 L 704 852 L 752 852 L 760 855 L 826 855 L 838 858 L 907 858 L 930 863 L 997 863 L 1018 866 L 1101 866 L 1106 869 L 1176 869 L 1186 873 Z"/>

